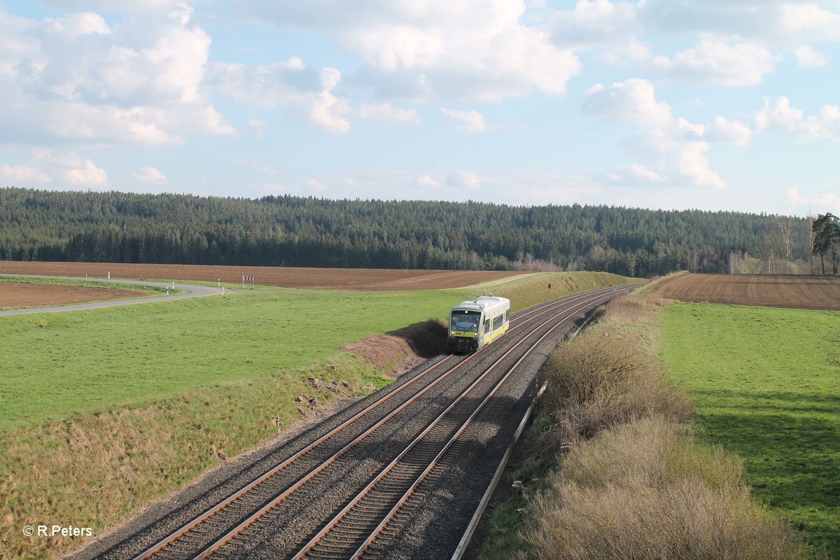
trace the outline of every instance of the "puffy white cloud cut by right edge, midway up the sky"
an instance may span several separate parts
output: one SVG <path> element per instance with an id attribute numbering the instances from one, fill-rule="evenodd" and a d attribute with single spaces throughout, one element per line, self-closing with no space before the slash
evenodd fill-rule
<path id="1" fill-rule="evenodd" d="M 769 129 L 795 139 L 840 140 L 840 105 L 825 105 L 806 117 L 801 109 L 790 107 L 787 97 L 765 99 L 754 120 L 757 132 Z"/>

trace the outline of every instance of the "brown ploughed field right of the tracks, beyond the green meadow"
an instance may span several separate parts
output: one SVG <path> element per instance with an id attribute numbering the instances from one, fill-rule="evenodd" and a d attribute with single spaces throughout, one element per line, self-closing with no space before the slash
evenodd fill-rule
<path id="1" fill-rule="evenodd" d="M 840 310 L 840 278 L 798 275 L 675 275 L 650 290 L 680 301 Z"/>

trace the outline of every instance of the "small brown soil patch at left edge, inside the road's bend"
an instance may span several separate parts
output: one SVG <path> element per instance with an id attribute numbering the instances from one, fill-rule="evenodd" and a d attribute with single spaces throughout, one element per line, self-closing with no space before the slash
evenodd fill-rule
<path id="1" fill-rule="evenodd" d="M 4 307 L 17 309 L 20 307 L 63 306 L 69 303 L 118 300 L 126 297 L 148 295 L 144 291 L 118 290 L 116 288 L 0 282 L 0 309 Z"/>

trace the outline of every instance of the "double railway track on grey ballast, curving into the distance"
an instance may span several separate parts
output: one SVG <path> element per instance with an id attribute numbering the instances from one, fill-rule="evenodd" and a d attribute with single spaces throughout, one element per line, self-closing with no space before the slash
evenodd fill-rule
<path id="1" fill-rule="evenodd" d="M 515 428 L 507 418 L 528 405 L 522 396 L 549 350 L 543 342 L 556 341 L 581 312 L 633 287 L 593 290 L 519 313 L 507 336 L 480 353 L 431 360 L 260 460 L 239 465 L 239 472 L 232 467 L 207 477 L 202 491 L 186 492 L 168 511 L 147 511 L 137 527 L 94 543 L 79 557 L 451 553 L 495 469 L 487 459 L 501 457 Z M 475 499 L 466 500 L 456 487 L 469 487 Z M 448 516 L 457 522 L 437 523 Z M 337 531 L 344 532 L 336 539 Z M 418 547 L 417 538 L 434 546 Z M 339 549 L 336 542 L 352 547 Z"/>

